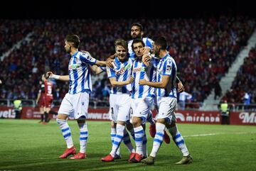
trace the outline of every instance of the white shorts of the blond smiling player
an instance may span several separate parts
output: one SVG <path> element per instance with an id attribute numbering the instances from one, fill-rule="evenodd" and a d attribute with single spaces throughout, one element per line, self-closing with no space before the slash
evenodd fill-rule
<path id="1" fill-rule="evenodd" d="M 130 94 L 110 94 L 110 120 L 128 121 L 131 110 Z"/>

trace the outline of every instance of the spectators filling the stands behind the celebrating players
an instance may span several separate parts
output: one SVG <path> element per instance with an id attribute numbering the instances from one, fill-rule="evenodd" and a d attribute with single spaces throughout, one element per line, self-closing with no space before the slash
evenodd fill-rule
<path id="1" fill-rule="evenodd" d="M 130 39 L 130 25 L 133 19 L 68 19 L 68 20 L 1 20 L 0 54 L 11 48 L 30 31 L 31 40 L 24 41 L 21 48 L 15 49 L 0 63 L 1 99 L 36 99 L 41 74 L 53 70 L 58 75 L 68 75 L 66 70 L 70 56 L 65 54 L 63 40 L 68 33 L 80 35 L 80 50 L 87 50 L 92 57 L 105 60 L 114 53 L 114 40 Z M 169 40 L 169 53 L 174 57 L 178 67 L 178 76 L 183 82 L 186 92 L 192 94 L 191 102 L 202 102 L 214 88 L 213 83 L 228 72 L 241 48 L 247 45 L 255 20 L 238 16 L 231 18 L 152 18 L 139 19 L 145 27 L 146 37 L 164 35 Z M 254 52 L 254 53 L 253 53 Z M 255 54 L 255 50 L 250 53 Z M 254 57 L 247 58 L 246 65 L 255 62 Z M 254 65 L 255 66 L 255 65 Z M 250 75 L 244 75 L 243 73 Z M 252 67 L 242 67 L 239 79 L 233 83 L 233 91 L 240 93 L 237 86 L 248 82 L 253 90 L 255 72 Z M 254 74 L 254 75 L 253 75 Z M 245 77 L 246 76 L 246 77 Z M 63 99 L 68 92 L 68 82 L 55 84 L 54 99 Z M 237 87 L 237 88 L 234 88 Z M 108 99 L 110 83 L 107 76 L 94 82 L 94 100 Z M 253 92 L 253 91 L 252 91 Z M 255 94 L 255 92 L 253 92 Z M 238 96 L 235 101 L 238 101 Z M 255 95 L 254 95 L 255 96 Z M 192 106 L 193 107 L 193 106 Z"/>

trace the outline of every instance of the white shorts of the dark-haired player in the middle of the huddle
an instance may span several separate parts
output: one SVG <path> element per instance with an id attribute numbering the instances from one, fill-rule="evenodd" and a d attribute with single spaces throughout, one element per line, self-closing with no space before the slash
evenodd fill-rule
<path id="1" fill-rule="evenodd" d="M 142 124 L 145 124 L 153 102 L 154 98 L 149 96 L 146 96 L 144 99 L 132 99 L 132 113 L 130 122 L 132 123 L 132 117 L 136 116 L 142 119 Z"/>

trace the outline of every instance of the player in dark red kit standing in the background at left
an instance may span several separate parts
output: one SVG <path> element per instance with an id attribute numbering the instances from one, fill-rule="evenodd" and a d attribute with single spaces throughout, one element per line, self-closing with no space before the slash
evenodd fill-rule
<path id="1" fill-rule="evenodd" d="M 39 123 L 46 125 L 50 121 L 48 115 L 53 102 L 53 84 L 48 82 L 45 75 L 42 75 L 41 80 L 41 89 L 38 91 L 36 104 L 38 104 L 41 113 L 41 121 Z"/>

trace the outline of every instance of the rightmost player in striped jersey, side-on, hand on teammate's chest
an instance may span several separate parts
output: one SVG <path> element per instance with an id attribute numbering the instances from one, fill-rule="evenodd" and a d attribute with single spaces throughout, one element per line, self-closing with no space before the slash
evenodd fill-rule
<path id="1" fill-rule="evenodd" d="M 189 164 L 192 162 L 191 155 L 186 148 L 185 141 L 176 127 L 176 118 L 174 111 L 177 104 L 176 93 L 176 62 L 166 50 L 167 41 L 164 37 L 157 38 L 153 44 L 153 53 L 159 58 L 156 69 L 156 82 L 146 79 L 139 81 L 141 85 L 147 85 L 156 88 L 156 102 L 159 114 L 156 121 L 156 136 L 154 137 L 153 148 L 148 158 L 142 160 L 146 165 L 153 165 L 156 153 L 164 139 L 164 129 L 168 128 L 173 136 L 176 145 L 183 153 L 181 161 L 176 164 Z"/>

